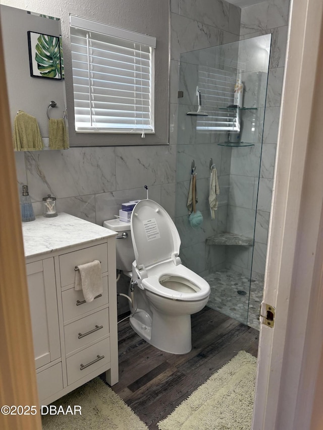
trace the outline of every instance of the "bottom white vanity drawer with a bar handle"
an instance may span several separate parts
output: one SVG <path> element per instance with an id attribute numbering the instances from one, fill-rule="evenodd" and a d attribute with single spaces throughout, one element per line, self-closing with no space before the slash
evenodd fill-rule
<path id="1" fill-rule="evenodd" d="M 110 338 L 106 338 L 66 359 L 68 385 L 109 363 Z"/>

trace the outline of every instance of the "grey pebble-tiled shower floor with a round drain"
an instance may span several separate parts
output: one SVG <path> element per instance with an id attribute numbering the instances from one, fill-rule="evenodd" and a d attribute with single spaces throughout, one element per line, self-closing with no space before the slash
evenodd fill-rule
<path id="1" fill-rule="evenodd" d="M 204 276 L 211 294 L 207 306 L 241 323 L 259 330 L 259 308 L 262 300 L 263 280 L 251 279 L 232 269 L 221 269 Z M 249 285 L 250 300 L 249 300 Z M 238 294 L 245 291 L 245 295 Z M 249 302 L 249 315 L 248 315 Z"/>

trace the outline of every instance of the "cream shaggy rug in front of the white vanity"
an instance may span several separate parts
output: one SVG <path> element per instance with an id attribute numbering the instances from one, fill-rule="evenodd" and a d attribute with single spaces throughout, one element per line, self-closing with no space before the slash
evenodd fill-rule
<path id="1" fill-rule="evenodd" d="M 43 430 L 148 430 L 133 410 L 99 378 L 54 402 L 81 406 L 82 415 L 44 415 Z"/>

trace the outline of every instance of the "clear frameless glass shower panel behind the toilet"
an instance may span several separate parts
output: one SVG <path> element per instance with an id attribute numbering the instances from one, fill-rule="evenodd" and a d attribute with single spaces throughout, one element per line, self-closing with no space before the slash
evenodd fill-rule
<path id="1" fill-rule="evenodd" d="M 263 276 L 252 271 L 252 261 L 270 46 L 265 35 L 186 52 L 179 67 L 175 223 L 181 259 L 210 284 L 208 306 L 255 328 Z M 242 100 L 235 98 L 237 82 Z M 198 228 L 187 208 L 192 167 L 203 215 Z M 220 188 L 214 219 L 211 167 Z"/>

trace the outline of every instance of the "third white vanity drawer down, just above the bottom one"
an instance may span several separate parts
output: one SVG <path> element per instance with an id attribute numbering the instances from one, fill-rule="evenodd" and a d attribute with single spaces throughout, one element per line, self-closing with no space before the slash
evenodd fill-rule
<path id="1" fill-rule="evenodd" d="M 109 334 L 109 308 L 68 324 L 64 331 L 67 354 L 106 336 Z"/>

